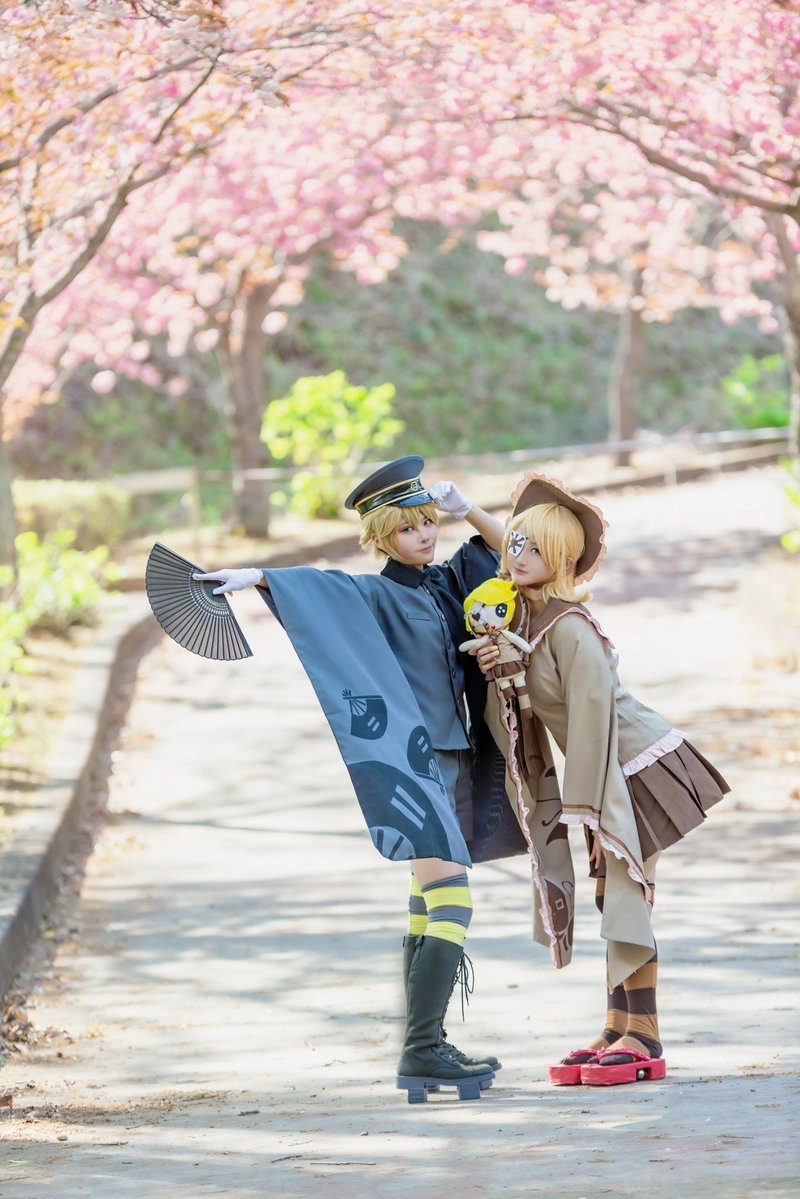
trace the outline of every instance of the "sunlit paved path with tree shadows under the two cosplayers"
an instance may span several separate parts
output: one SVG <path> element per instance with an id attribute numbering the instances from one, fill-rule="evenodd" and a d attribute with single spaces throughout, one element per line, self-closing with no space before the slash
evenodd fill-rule
<path id="1" fill-rule="evenodd" d="M 473 873 L 477 988 L 450 1022 L 505 1070 L 480 1103 L 404 1103 L 405 870 L 374 854 L 293 651 L 242 595 L 253 659 L 164 641 L 143 663 L 74 932 L 32 1011 L 50 1032 L 0 1076 L 0 1197 L 796 1195 L 800 675 L 758 635 L 780 483 L 603 501 L 594 607 L 622 676 L 735 788 L 660 872 L 663 1084 L 547 1085 L 599 1028 L 602 947 L 579 858 L 576 959 L 553 971 L 513 860 Z"/>

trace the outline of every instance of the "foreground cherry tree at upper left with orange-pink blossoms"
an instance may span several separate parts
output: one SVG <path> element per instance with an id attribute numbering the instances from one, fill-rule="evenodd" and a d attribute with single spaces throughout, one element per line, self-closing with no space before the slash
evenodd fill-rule
<path id="1" fill-rule="evenodd" d="M 4 10 L 0 388 L 126 207 L 300 86 L 337 92 L 380 60 L 357 0 L 37 0 Z M 1 416 L 1 409 L 0 409 Z M 12 550 L 0 422 L 0 558 Z"/>

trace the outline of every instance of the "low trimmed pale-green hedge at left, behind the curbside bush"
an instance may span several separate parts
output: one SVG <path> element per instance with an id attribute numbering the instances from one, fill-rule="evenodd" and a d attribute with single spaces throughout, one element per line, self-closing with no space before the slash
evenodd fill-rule
<path id="1" fill-rule="evenodd" d="M 17 480 L 17 524 L 37 537 L 68 529 L 77 549 L 116 546 L 128 532 L 131 496 L 110 483 Z"/>

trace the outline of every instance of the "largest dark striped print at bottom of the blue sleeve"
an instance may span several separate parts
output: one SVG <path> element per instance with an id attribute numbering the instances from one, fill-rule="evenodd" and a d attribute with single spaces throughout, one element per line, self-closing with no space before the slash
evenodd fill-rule
<path id="1" fill-rule="evenodd" d="M 419 783 L 383 761 L 357 761 L 348 770 L 369 836 L 384 857 L 404 862 L 416 849 L 417 857 L 450 861 L 447 833 Z"/>

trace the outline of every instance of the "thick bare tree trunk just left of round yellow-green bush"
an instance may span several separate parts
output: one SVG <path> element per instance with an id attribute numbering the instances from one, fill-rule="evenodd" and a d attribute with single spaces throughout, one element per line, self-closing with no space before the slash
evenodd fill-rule
<path id="1" fill-rule="evenodd" d="M 241 333 L 223 341 L 231 405 L 233 456 L 236 471 L 261 469 L 269 456 L 260 438 L 266 406 L 264 333 L 261 325 L 270 311 L 272 288 L 255 284 L 241 299 Z M 270 530 L 270 484 L 266 480 L 239 477 L 234 486 L 236 519 L 248 537 L 267 537 Z"/>

